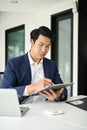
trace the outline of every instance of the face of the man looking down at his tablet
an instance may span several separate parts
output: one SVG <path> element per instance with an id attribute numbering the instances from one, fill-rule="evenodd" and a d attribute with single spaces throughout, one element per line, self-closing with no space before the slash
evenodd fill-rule
<path id="1" fill-rule="evenodd" d="M 39 35 L 35 42 L 31 40 L 31 44 L 31 56 L 34 61 L 39 61 L 48 53 L 51 45 L 51 39 L 46 36 Z"/>

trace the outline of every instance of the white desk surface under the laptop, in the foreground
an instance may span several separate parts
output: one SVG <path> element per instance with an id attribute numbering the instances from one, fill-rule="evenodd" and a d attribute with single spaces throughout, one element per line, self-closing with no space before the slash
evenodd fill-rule
<path id="1" fill-rule="evenodd" d="M 87 111 L 65 102 L 24 104 L 30 110 L 23 117 L 0 117 L 0 130 L 87 130 Z M 62 110 L 61 115 L 47 115 L 44 110 Z"/>

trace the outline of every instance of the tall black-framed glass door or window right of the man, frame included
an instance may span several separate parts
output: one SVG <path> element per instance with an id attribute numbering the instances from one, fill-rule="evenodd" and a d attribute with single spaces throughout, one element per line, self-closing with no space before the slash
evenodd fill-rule
<path id="1" fill-rule="evenodd" d="M 65 83 L 72 82 L 73 65 L 73 13 L 67 10 L 51 17 L 55 43 L 52 44 L 51 58 L 58 64 L 59 73 Z M 72 95 L 72 87 L 68 87 L 68 95 Z"/>

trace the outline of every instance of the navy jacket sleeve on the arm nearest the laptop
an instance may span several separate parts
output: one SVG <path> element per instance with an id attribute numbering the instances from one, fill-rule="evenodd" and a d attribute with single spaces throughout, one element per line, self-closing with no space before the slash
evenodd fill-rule
<path id="1" fill-rule="evenodd" d="M 21 81 L 24 77 L 21 77 L 21 81 L 18 82 L 18 70 L 15 69 L 15 65 L 10 60 L 7 64 L 7 67 L 4 72 L 3 80 L 2 80 L 2 88 L 12 88 L 17 90 L 19 102 L 24 100 L 23 92 L 26 85 L 22 85 Z"/>

